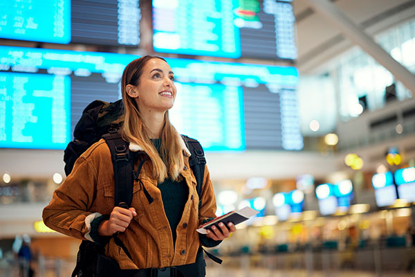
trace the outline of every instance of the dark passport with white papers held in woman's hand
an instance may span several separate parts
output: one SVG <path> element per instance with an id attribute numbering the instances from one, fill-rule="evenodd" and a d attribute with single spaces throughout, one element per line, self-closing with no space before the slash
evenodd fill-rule
<path id="1" fill-rule="evenodd" d="M 205 224 L 201 225 L 199 229 L 196 229 L 196 231 L 202 234 L 207 234 L 207 230 L 210 230 L 213 225 L 216 225 L 217 228 L 217 224 L 219 224 L 219 222 L 222 222 L 226 226 L 228 226 L 228 222 L 232 222 L 234 225 L 236 225 L 248 220 L 249 217 L 252 217 L 257 213 L 259 213 L 259 211 L 256 211 L 250 207 L 241 208 L 239 211 L 231 211 L 229 213 L 225 213 L 225 215 L 221 215 L 220 217 L 216 217 L 213 220 L 210 220 L 210 222 L 206 222 Z"/>

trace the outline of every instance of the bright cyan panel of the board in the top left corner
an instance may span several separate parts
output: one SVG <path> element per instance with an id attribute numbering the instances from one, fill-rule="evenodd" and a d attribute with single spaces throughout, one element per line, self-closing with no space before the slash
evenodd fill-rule
<path id="1" fill-rule="evenodd" d="M 0 1 L 0 37 L 67 44 L 71 41 L 71 0 Z"/>

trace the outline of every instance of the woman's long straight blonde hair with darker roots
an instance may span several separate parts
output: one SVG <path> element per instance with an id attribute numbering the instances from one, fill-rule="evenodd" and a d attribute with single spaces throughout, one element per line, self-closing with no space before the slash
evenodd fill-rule
<path id="1" fill-rule="evenodd" d="M 185 163 L 183 152 L 179 143 L 180 136 L 169 121 L 169 111 L 165 112 L 163 128 L 160 139 L 161 147 L 158 154 L 154 144 L 150 140 L 149 129 L 145 126 L 140 111 L 134 98 L 127 93 L 127 84 L 137 86 L 140 82 L 142 70 L 151 59 L 164 60 L 163 57 L 146 55 L 130 62 L 122 73 L 121 92 L 124 102 L 124 123 L 122 125 L 122 138 L 130 143 L 140 145 L 149 155 L 153 164 L 153 176 L 161 183 L 170 177 L 174 181 L 180 179 L 181 169 Z M 165 60 L 164 60 L 165 61 Z M 166 62 L 166 61 L 165 61 Z"/>

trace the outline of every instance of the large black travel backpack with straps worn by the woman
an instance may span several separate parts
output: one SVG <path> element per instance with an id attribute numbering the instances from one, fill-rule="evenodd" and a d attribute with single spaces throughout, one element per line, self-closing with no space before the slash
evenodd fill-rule
<path id="1" fill-rule="evenodd" d="M 134 154 L 128 150 L 128 143 L 124 141 L 118 129 L 122 125 L 122 113 L 123 113 L 122 100 L 116 102 L 104 102 L 102 100 L 95 100 L 91 102 L 82 112 L 82 116 L 75 126 L 73 136 L 74 139 L 64 151 L 65 173 L 68 176 L 75 161 L 80 155 L 87 150 L 93 143 L 103 138 L 109 150 L 111 152 L 111 159 L 113 161 L 114 169 L 114 183 L 116 186 L 114 206 L 122 206 L 128 208 L 131 204 L 133 181 L 138 178 L 140 172 L 140 166 L 138 166 L 138 172 L 134 172 Z M 196 190 L 199 195 L 199 208 L 201 207 L 201 190 L 203 184 L 203 175 L 205 170 L 205 157 L 203 148 L 199 141 L 191 139 L 188 136 L 182 135 L 183 140 L 187 144 L 190 153 L 192 154 L 189 159 L 190 168 L 193 171 L 196 178 Z M 152 201 L 151 196 L 144 190 L 147 199 Z M 122 247 L 127 256 L 129 255 L 128 249 L 124 247 L 122 241 L 116 236 L 113 236 L 114 242 L 118 246 Z M 204 249 L 203 249 L 204 250 Z M 72 277 L 95 277 L 98 256 L 103 255 L 104 247 L 95 242 L 89 240 L 82 240 L 80 249 L 77 253 L 77 263 L 73 270 Z M 212 254 L 207 253 L 210 258 L 221 263 L 221 260 L 216 257 L 211 257 Z"/>

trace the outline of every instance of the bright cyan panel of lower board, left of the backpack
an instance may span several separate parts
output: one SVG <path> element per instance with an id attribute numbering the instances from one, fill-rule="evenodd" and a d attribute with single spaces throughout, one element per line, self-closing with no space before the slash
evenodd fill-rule
<path id="1" fill-rule="evenodd" d="M 70 89 L 67 76 L 0 72 L 0 147 L 65 148 Z"/>

